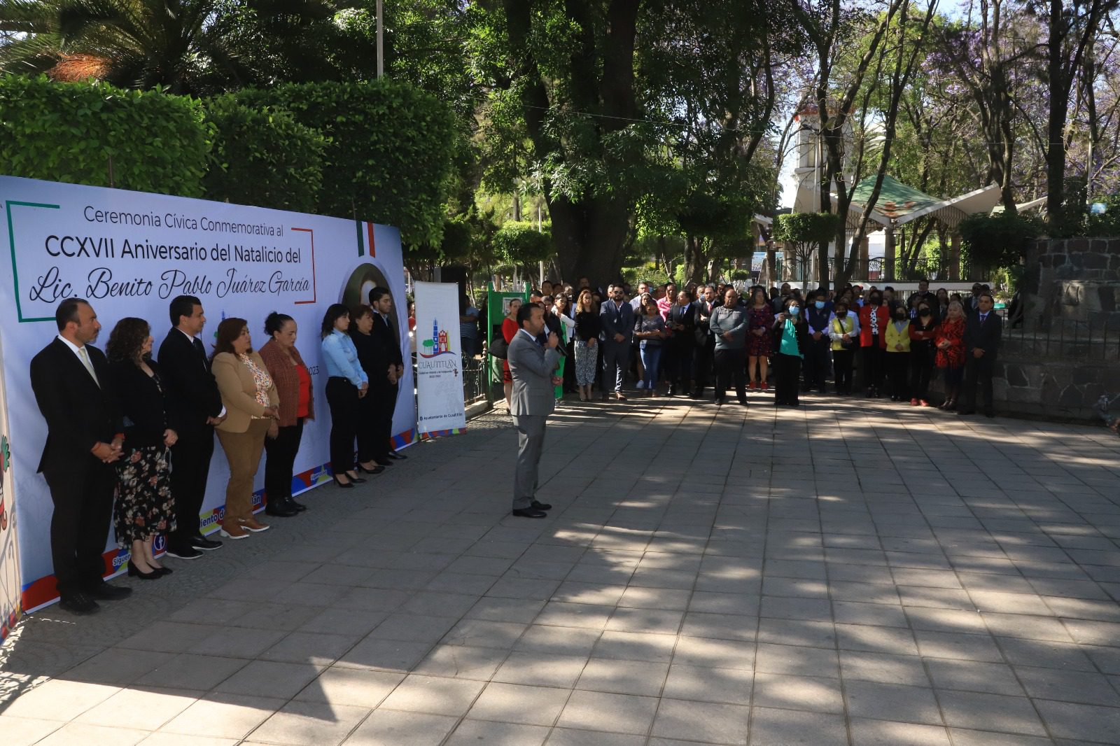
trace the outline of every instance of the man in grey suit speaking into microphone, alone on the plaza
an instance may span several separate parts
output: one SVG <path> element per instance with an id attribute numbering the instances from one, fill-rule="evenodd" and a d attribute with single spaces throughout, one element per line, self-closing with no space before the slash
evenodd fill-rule
<path id="1" fill-rule="evenodd" d="M 525 304 L 517 309 L 521 328 L 510 343 L 506 361 L 513 377 L 510 414 L 517 428 L 517 468 L 513 477 L 513 514 L 520 517 L 544 517 L 552 507 L 535 500 L 536 469 L 544 447 L 544 421 L 556 409 L 553 386 L 561 379 L 554 375 L 560 366 L 557 345 L 560 339 L 549 334 L 548 345 L 536 338 L 544 332 L 544 309 Z"/>

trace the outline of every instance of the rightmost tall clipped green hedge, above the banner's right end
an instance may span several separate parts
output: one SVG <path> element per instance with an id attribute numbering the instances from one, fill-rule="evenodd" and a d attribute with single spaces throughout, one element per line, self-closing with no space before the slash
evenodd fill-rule
<path id="1" fill-rule="evenodd" d="M 444 102 L 388 80 L 235 95 L 254 109 L 286 109 L 327 138 L 318 212 L 395 225 L 405 243 L 439 243 L 458 137 Z"/>

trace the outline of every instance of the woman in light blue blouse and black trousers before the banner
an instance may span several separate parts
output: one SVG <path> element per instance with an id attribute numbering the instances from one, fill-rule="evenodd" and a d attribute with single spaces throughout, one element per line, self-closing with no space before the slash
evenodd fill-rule
<path id="1" fill-rule="evenodd" d="M 333 304 L 323 317 L 323 362 L 327 367 L 327 404 L 330 407 L 330 470 L 335 484 L 351 488 L 365 482 L 354 465 L 360 399 L 370 389 L 370 380 L 357 361 L 357 349 L 346 330 L 349 309 Z"/>

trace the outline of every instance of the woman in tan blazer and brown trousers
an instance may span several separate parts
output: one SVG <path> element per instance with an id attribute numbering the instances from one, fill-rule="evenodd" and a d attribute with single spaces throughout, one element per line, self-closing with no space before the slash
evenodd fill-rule
<path id="1" fill-rule="evenodd" d="M 278 431 L 280 398 L 264 361 L 253 352 L 249 325 L 243 318 L 227 318 L 218 324 L 211 370 L 227 414 L 217 426 L 218 442 L 230 460 L 222 535 L 246 539 L 250 532 L 269 528 L 253 517 L 253 479 L 261 464 L 265 436 L 276 437 Z"/>

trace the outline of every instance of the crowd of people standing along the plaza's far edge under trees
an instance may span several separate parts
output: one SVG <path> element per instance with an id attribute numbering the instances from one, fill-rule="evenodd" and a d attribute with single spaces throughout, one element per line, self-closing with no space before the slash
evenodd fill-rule
<path id="1" fill-rule="evenodd" d="M 543 345 L 557 332 L 564 366 L 563 392 L 590 401 L 625 401 L 640 395 L 688 395 L 727 402 L 734 390 L 771 391 L 774 404 L 797 407 L 810 392 L 869 399 L 889 397 L 913 407 L 932 407 L 930 386 L 940 373 L 940 409 L 968 416 L 995 414 L 992 372 L 1002 319 L 990 289 L 981 283 L 968 297 L 921 281 L 906 298 L 894 288 L 846 285 L 802 291 L 734 285 L 640 282 L 595 288 L 542 283 L 529 302 L 543 309 Z M 522 301 L 513 299 L 502 320 L 508 343 L 520 332 Z M 495 327 L 496 330 L 496 327 Z M 505 394 L 512 392 L 508 363 Z M 627 385 L 633 382 L 633 388 Z M 830 385 L 831 382 L 831 385 Z"/>

